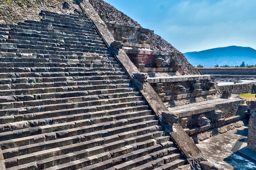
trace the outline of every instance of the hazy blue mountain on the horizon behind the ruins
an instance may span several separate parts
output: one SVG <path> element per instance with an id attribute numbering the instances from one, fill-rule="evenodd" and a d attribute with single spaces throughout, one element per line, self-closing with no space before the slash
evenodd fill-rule
<path id="1" fill-rule="evenodd" d="M 245 65 L 256 65 L 256 50 L 251 47 L 220 47 L 203 51 L 184 53 L 189 63 L 193 66 L 203 65 L 204 67 L 240 66 L 243 61 Z"/>

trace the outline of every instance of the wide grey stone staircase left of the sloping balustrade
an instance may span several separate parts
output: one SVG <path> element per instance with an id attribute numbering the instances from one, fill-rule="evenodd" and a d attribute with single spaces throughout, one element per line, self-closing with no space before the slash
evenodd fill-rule
<path id="1" fill-rule="evenodd" d="M 7 170 L 162 170 L 180 150 L 85 13 L 0 25 Z"/>

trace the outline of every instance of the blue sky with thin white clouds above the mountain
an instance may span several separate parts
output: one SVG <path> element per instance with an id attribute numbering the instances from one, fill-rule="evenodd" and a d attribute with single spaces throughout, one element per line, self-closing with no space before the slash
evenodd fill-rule
<path id="1" fill-rule="evenodd" d="M 256 49 L 256 0 L 104 0 L 182 53 Z"/>

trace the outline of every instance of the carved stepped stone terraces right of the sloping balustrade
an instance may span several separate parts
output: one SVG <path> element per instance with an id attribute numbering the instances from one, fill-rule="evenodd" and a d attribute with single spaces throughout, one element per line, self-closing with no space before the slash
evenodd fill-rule
<path id="1" fill-rule="evenodd" d="M 194 136 L 210 129 L 221 133 L 221 127 L 246 117 L 246 110 L 239 109 L 245 107 L 244 100 L 219 94 L 214 76 L 193 75 L 192 69 L 191 74 L 182 75 L 183 54 L 170 46 L 153 47 L 148 40 L 153 35 L 152 30 L 142 28 L 127 16 L 123 18 L 131 21 L 131 25 L 118 20 L 113 14 L 117 11 L 105 2 L 90 2 L 99 14 L 107 16 L 105 23 L 112 36 L 124 43 L 124 51 L 138 70 L 148 74 L 148 83 L 168 110 L 179 117 L 187 134 Z M 223 114 L 217 119 L 215 115 L 218 112 Z"/>

